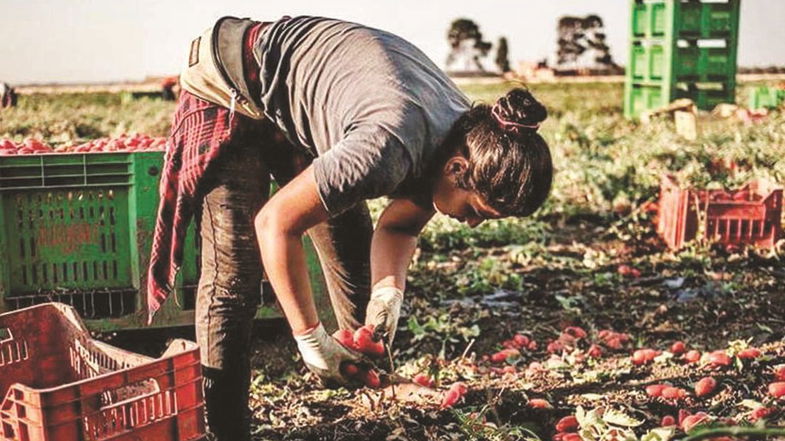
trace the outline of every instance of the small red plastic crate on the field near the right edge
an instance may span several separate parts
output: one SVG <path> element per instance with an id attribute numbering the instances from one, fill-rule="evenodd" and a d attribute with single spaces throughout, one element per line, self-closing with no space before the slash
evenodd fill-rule
<path id="1" fill-rule="evenodd" d="M 678 250 L 699 231 L 723 244 L 773 247 L 782 236 L 782 187 L 754 180 L 732 192 L 695 190 L 663 176 L 657 232 Z"/>

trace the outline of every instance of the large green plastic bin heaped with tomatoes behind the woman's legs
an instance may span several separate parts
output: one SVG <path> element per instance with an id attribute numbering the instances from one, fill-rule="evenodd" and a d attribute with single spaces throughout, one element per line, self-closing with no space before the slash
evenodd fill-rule
<path id="1" fill-rule="evenodd" d="M 0 311 L 59 301 L 93 329 L 144 326 L 162 166 L 163 152 L 0 157 Z M 317 306 L 329 312 L 318 258 L 305 245 Z M 184 255 L 174 299 L 154 326 L 193 322 L 193 224 Z M 279 314 L 262 307 L 257 316 Z"/>

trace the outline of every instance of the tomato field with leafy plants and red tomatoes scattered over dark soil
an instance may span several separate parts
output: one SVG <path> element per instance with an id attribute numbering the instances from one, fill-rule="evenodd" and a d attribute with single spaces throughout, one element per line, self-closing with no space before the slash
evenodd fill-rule
<path id="1" fill-rule="evenodd" d="M 462 87 L 491 101 L 512 86 Z M 475 229 L 437 217 L 422 235 L 393 356 L 379 365 L 438 393 L 322 389 L 288 331 L 264 327 L 251 348 L 255 439 L 785 437 L 785 242 L 671 251 L 654 224 L 664 173 L 706 189 L 785 184 L 785 115 L 702 117 L 686 140 L 667 118 L 626 121 L 622 88 L 532 85 L 557 169 L 546 205 Z M 165 136 L 173 110 L 26 95 L 0 112 L 0 139 Z M 440 406 L 456 382 L 465 394 Z"/>

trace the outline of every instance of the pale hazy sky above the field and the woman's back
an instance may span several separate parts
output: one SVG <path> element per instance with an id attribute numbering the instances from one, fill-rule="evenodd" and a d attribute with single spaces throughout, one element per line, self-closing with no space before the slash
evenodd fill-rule
<path id="1" fill-rule="evenodd" d="M 785 65 L 785 0 L 743 0 L 742 66 Z M 439 66 L 455 18 L 470 18 L 510 59 L 556 49 L 562 15 L 597 14 L 611 54 L 627 61 L 629 0 L 0 0 L 0 81 L 11 84 L 140 80 L 179 72 L 188 44 L 224 15 L 268 21 L 282 15 L 341 18 L 396 33 Z"/>

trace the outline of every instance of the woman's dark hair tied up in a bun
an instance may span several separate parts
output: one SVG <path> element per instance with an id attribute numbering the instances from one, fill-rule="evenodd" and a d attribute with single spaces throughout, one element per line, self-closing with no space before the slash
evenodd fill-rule
<path id="1" fill-rule="evenodd" d="M 553 163 L 548 144 L 537 133 L 548 116 L 526 89 L 516 88 L 493 106 L 479 104 L 463 114 L 445 140 L 444 163 L 458 151 L 469 167 L 458 185 L 476 191 L 506 216 L 528 216 L 551 189 Z M 455 149 L 459 149 L 456 151 Z"/>

